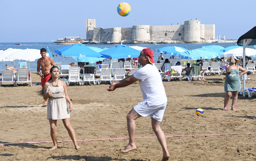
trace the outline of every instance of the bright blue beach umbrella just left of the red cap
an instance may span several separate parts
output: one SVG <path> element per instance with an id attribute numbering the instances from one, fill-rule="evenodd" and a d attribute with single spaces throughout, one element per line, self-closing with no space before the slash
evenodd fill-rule
<path id="1" fill-rule="evenodd" d="M 120 58 L 138 58 L 141 51 L 130 48 L 129 46 L 120 44 L 100 52 L 105 58 L 120 59 Z"/>

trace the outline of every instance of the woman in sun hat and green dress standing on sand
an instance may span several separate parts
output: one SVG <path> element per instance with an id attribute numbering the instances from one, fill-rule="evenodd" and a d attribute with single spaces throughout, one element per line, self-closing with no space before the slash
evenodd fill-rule
<path id="1" fill-rule="evenodd" d="M 227 110 L 228 102 L 231 96 L 233 95 L 231 110 L 236 110 L 235 105 L 238 99 L 238 91 L 241 88 L 240 77 L 247 73 L 246 69 L 241 66 L 238 66 L 240 60 L 234 56 L 231 56 L 228 60 L 230 64 L 226 66 L 226 79 L 224 84 L 224 90 L 226 92 L 226 96 L 224 99 L 224 108 L 223 110 Z M 242 71 L 239 74 L 239 71 Z"/>

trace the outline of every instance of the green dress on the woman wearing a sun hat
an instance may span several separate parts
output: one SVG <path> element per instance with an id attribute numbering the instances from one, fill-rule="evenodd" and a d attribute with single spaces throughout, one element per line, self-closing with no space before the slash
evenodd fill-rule
<path id="1" fill-rule="evenodd" d="M 241 88 L 241 81 L 239 79 L 239 70 L 230 69 L 226 75 L 224 90 L 226 91 L 238 91 Z"/>

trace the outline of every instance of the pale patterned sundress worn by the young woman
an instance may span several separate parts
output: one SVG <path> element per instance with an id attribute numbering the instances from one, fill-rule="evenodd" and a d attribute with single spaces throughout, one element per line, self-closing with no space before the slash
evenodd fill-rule
<path id="1" fill-rule="evenodd" d="M 63 87 L 48 86 L 46 92 L 52 92 L 47 104 L 47 119 L 60 120 L 70 118 L 69 107 Z"/>

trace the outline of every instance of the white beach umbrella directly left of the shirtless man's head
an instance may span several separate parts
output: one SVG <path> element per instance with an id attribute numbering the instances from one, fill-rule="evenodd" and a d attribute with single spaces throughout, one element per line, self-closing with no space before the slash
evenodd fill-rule
<path id="1" fill-rule="evenodd" d="M 39 58 L 42 58 L 42 56 L 40 54 L 40 50 L 38 49 L 23 49 L 5 57 L 6 61 L 14 61 L 14 60 L 35 61 L 35 59 L 39 59 Z"/>

